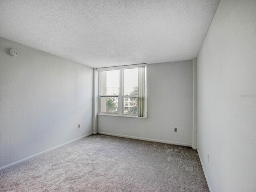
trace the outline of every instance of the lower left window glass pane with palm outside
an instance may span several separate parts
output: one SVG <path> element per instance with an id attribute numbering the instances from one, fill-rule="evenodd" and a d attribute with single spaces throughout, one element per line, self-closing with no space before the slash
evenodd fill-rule
<path id="1" fill-rule="evenodd" d="M 101 97 L 100 112 L 118 113 L 118 97 Z"/>

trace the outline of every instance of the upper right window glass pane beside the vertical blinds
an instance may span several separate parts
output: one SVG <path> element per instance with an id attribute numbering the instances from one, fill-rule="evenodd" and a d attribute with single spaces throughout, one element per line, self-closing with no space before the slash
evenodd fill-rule
<path id="1" fill-rule="evenodd" d="M 124 95 L 138 95 L 138 68 L 124 69 Z"/>

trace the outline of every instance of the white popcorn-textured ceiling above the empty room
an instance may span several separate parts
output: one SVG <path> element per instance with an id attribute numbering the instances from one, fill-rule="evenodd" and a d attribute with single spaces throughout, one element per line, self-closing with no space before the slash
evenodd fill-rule
<path id="1" fill-rule="evenodd" d="M 1 0 L 0 36 L 90 67 L 196 57 L 219 0 Z"/>

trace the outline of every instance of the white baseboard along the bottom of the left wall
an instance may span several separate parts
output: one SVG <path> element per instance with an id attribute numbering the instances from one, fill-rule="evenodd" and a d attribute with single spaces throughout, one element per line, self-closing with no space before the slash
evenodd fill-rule
<path id="1" fill-rule="evenodd" d="M 70 143 L 75 142 L 75 141 L 77 141 L 77 140 L 80 140 L 80 139 L 82 139 L 82 138 L 85 138 L 85 137 L 87 137 L 87 136 L 89 136 L 89 135 L 91 135 L 91 134 L 92 134 L 92 133 L 86 134 L 86 135 L 84 135 L 84 136 L 82 136 L 82 137 L 76 138 L 76 139 L 74 139 L 74 140 L 71 140 L 71 141 L 68 141 L 68 142 L 66 142 L 66 143 L 60 144 L 60 145 L 55 146 L 55 147 L 53 147 L 53 148 L 47 149 L 47 150 L 45 150 L 45 151 L 43 151 L 43 152 L 34 154 L 34 155 L 29 156 L 29 157 L 27 157 L 27 158 L 24 158 L 24 159 L 22 159 L 22 160 L 19 160 L 19 161 L 16 161 L 16 162 L 14 162 L 14 163 L 11 163 L 11 164 L 8 164 L 8 165 L 6 165 L 6 166 L 3 166 L 3 167 L 0 168 L 0 172 L 3 171 L 3 170 L 9 169 L 9 168 L 11 168 L 11 167 L 13 167 L 13 166 L 16 166 L 16 165 L 18 165 L 18 164 L 21 164 L 21 163 L 23 163 L 23 162 L 25 162 L 25 161 L 31 160 L 31 159 L 33 159 L 33 158 L 35 158 L 35 157 L 37 157 L 37 156 L 40 156 L 40 155 L 42 155 L 42 154 L 44 154 L 44 153 L 50 152 L 50 151 L 52 151 L 52 150 L 54 150 L 54 149 L 56 149 L 56 148 L 62 147 L 62 146 L 64 146 L 64 145 L 67 145 L 67 144 L 70 144 Z"/>

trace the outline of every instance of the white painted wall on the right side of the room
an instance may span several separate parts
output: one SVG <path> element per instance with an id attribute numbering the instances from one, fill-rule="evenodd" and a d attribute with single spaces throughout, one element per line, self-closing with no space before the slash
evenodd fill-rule
<path id="1" fill-rule="evenodd" d="M 256 1 L 221 0 L 198 55 L 198 151 L 212 192 L 256 191 L 255 147 Z"/>

